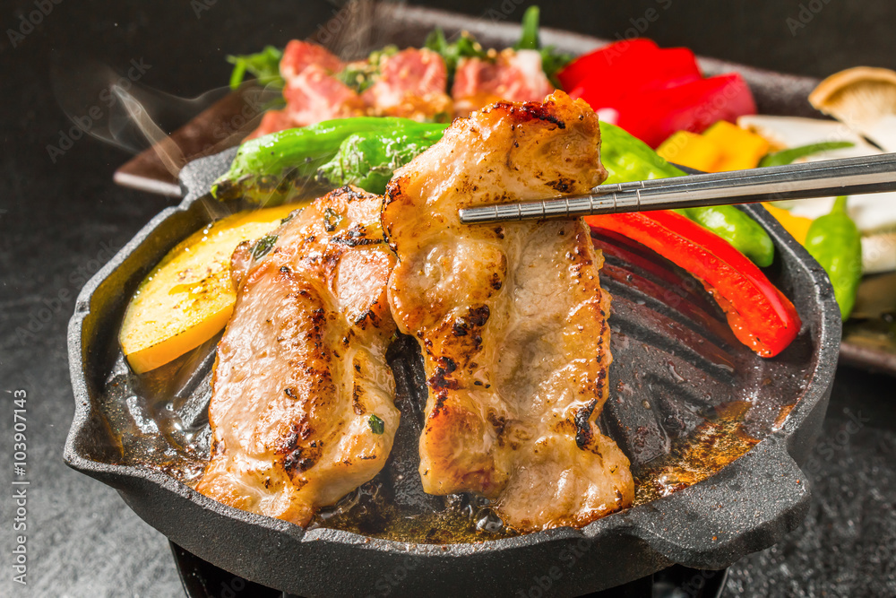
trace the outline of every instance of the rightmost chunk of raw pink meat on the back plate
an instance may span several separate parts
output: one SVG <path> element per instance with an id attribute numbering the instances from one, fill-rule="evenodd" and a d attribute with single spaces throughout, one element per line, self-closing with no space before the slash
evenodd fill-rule
<path id="1" fill-rule="evenodd" d="M 541 101 L 551 91 L 538 50 L 507 48 L 494 60 L 461 58 L 451 94 L 454 113 L 462 117 L 499 100 Z"/>

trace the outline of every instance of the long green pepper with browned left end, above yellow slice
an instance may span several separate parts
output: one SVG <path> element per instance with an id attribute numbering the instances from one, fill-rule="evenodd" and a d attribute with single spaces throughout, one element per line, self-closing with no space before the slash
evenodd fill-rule
<path id="1" fill-rule="evenodd" d="M 314 186 L 317 170 L 351 135 L 403 133 L 425 138 L 441 134 L 445 126 L 409 118 L 354 117 L 264 135 L 239 147 L 228 172 L 212 184 L 211 195 L 222 201 L 243 197 L 251 204 L 282 204 Z"/>

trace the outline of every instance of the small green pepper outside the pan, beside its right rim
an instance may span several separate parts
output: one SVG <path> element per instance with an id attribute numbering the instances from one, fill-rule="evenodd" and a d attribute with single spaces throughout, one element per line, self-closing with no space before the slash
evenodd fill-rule
<path id="1" fill-rule="evenodd" d="M 846 197 L 838 197 L 831 213 L 812 222 L 805 247 L 828 273 L 840 316 L 845 320 L 856 303 L 862 280 L 862 235 L 846 212 Z"/>

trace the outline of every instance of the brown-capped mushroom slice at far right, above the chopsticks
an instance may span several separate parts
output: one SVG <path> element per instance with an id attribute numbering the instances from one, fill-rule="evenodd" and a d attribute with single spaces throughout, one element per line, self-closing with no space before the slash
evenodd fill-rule
<path id="1" fill-rule="evenodd" d="M 886 152 L 896 152 L 896 72 L 857 66 L 832 74 L 809 102 Z"/>

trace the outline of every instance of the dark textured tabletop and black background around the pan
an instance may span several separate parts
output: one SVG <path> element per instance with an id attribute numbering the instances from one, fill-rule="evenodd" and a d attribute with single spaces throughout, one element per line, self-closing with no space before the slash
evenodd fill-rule
<path id="1" fill-rule="evenodd" d="M 488 11 L 507 3 L 525 4 L 440 4 L 495 18 Z M 896 66 L 892 3 L 744 0 L 719 3 L 711 14 L 682 4 L 569 2 L 545 10 L 543 22 L 612 39 L 659 6 L 664 13 L 646 34 L 704 55 L 817 76 L 849 65 Z M 809 12 L 801 15 L 801 5 Z M 93 59 L 125 73 L 133 60 L 143 65 L 143 84 L 193 97 L 227 81 L 224 55 L 305 37 L 335 9 L 326 2 L 0 2 L 0 595 L 183 595 L 166 539 L 114 490 L 62 461 L 73 414 L 65 328 L 74 297 L 171 201 L 115 186 L 112 173 L 128 157 L 118 148 L 88 136 L 61 154 L 49 148 L 60 148 L 61 132 L 72 126 L 60 108 L 70 90 L 54 90 L 51 72 Z M 520 15 L 513 8 L 507 18 Z M 39 24 L 29 28 L 22 18 Z M 814 492 L 806 523 L 738 562 L 731 594 L 896 595 L 893 386 L 892 378 L 840 369 L 824 437 L 806 465 Z M 17 389 L 28 396 L 28 585 L 12 581 L 21 533 L 13 531 L 11 484 L 22 479 L 13 474 Z"/>

